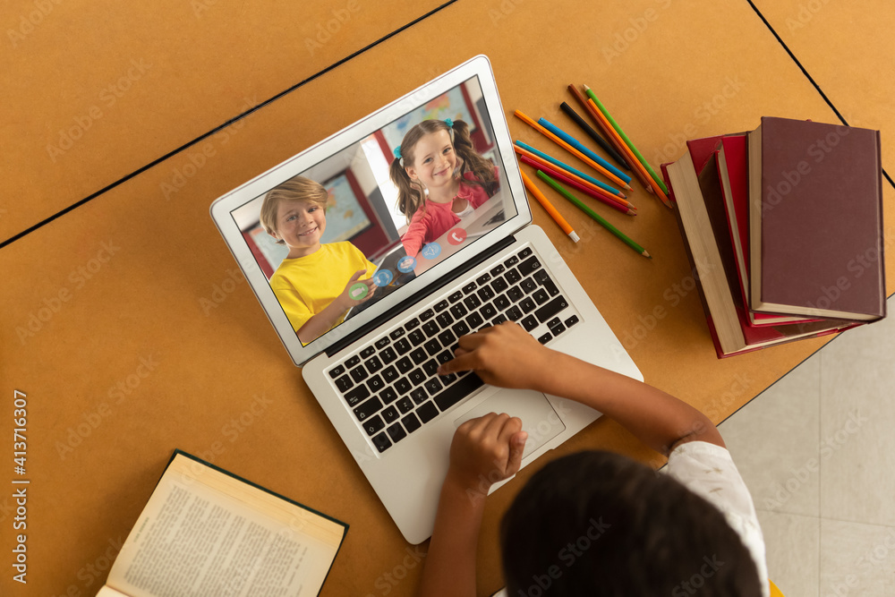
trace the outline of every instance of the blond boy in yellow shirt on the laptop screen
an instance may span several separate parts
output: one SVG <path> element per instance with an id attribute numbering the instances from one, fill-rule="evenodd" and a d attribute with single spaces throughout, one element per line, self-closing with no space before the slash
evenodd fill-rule
<path id="1" fill-rule="evenodd" d="M 270 287 L 302 344 L 320 337 L 345 319 L 355 305 L 376 291 L 376 270 L 352 243 L 321 244 L 327 227 L 327 190 L 304 176 L 274 187 L 261 204 L 261 226 L 286 255 Z"/>

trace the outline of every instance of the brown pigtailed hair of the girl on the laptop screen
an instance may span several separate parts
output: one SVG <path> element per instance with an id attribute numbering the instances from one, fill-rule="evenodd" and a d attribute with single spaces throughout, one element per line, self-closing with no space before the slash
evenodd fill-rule
<path id="1" fill-rule="evenodd" d="M 497 191 L 499 181 L 494 176 L 494 165 L 475 151 L 473 140 L 469 135 L 469 126 L 464 121 L 456 120 L 448 125 L 443 120 L 423 120 L 407 131 L 404 140 L 401 141 L 400 155 L 392 160 L 388 170 L 392 183 L 397 187 L 397 208 L 408 222 L 425 203 L 426 193 L 422 183 L 414 181 L 407 175 L 405 166 L 413 164 L 413 148 L 416 143 L 425 135 L 439 131 L 451 134 L 454 151 L 457 158 L 460 158 L 459 175 L 463 177 L 465 173 L 471 172 L 475 176 L 474 179 L 464 178 L 464 183 L 481 186 L 489 196 Z"/>

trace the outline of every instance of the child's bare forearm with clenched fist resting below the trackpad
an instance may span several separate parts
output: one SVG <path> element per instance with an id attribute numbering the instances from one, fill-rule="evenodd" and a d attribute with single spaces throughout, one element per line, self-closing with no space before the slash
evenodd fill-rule
<path id="1" fill-rule="evenodd" d="M 516 474 L 527 434 L 507 414 L 460 425 L 450 447 L 435 529 L 422 570 L 420 595 L 475 595 L 475 547 L 491 483 Z"/>

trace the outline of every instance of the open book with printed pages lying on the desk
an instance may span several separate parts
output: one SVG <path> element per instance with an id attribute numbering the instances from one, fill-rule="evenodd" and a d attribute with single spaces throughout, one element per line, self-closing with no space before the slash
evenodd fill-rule
<path id="1" fill-rule="evenodd" d="M 317 595 L 347 529 L 175 450 L 97 594 Z"/>

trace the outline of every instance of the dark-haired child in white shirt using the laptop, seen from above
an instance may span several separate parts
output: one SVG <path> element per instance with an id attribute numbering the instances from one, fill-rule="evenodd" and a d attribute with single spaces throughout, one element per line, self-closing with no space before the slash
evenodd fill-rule
<path id="1" fill-rule="evenodd" d="M 592 406 L 651 448 L 668 473 L 583 452 L 535 473 L 500 525 L 507 595 L 768 595 L 752 498 L 714 424 L 659 389 L 542 346 L 515 323 L 461 337 L 440 374 L 534 388 Z M 450 448 L 421 595 L 475 594 L 490 484 L 519 470 L 526 434 L 507 414 L 460 425 Z"/>

